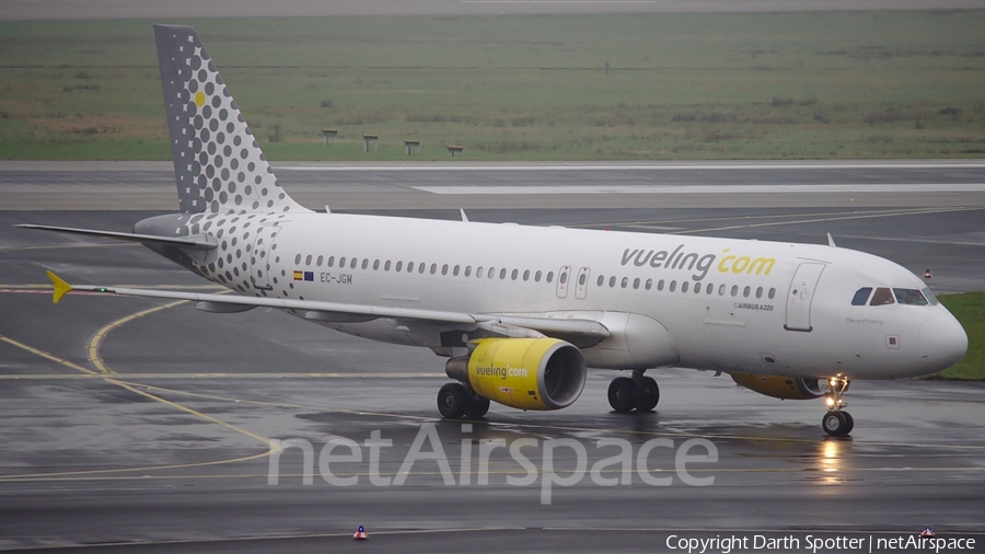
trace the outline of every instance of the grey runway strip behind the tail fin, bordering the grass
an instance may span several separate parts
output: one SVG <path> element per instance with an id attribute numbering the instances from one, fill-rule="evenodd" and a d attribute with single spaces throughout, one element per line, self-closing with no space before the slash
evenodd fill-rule
<path id="1" fill-rule="evenodd" d="M 985 206 L 985 162 L 281 163 L 332 209 Z M 600 193 L 601 192 L 601 193 Z M 174 209 L 170 163 L 0 162 L 0 206 Z"/>

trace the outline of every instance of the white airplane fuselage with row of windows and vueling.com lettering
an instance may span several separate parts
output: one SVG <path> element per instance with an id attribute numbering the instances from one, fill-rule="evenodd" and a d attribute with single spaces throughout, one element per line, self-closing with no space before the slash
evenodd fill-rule
<path id="1" fill-rule="evenodd" d="M 676 360 L 659 365 L 893 379 L 939 371 L 966 346 L 960 324 L 934 301 L 853 305 L 864 287 L 926 285 L 890 261 L 826 245 L 337 213 L 199 215 L 189 217 L 186 232 L 219 229 L 220 247 L 196 267 L 231 287 L 248 275 L 277 298 L 584 318 L 610 328 L 638 315 L 665 327 L 676 350 Z M 267 240 L 257 246 L 259 236 Z M 243 252 L 247 245 L 252 254 Z M 266 275 L 262 251 L 269 256 Z M 227 278 L 230 265 L 236 274 Z M 434 325 L 320 323 L 459 354 L 442 346 Z M 634 369 L 633 353 L 621 357 L 621 348 L 626 339 L 616 336 L 584 348 L 586 358 L 594 367 Z"/>

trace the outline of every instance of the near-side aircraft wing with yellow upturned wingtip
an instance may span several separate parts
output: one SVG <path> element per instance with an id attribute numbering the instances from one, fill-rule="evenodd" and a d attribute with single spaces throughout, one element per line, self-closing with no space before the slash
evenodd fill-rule
<path id="1" fill-rule="evenodd" d="M 341 302 L 322 302 L 317 300 L 294 300 L 289 298 L 244 297 L 239 295 L 210 295 L 183 292 L 175 290 L 134 289 L 124 287 L 72 286 L 51 272 L 46 272 L 55 285 L 53 301 L 58 303 L 71 290 L 84 290 L 105 295 L 130 297 L 166 298 L 173 300 L 190 300 L 199 302 L 210 312 L 240 312 L 253 308 L 278 308 L 308 312 L 305 318 L 325 321 L 346 321 L 333 316 L 350 318 L 348 321 L 369 321 L 378 318 L 420 321 L 439 325 L 489 325 L 505 328 L 523 328 L 543 333 L 547 336 L 580 336 L 594 338 L 595 342 L 607 338 L 611 333 L 601 323 L 591 320 L 528 318 L 515 315 L 496 315 L 482 313 L 447 312 L 440 310 L 422 310 L 418 308 L 394 308 L 387 305 L 349 304 Z"/>

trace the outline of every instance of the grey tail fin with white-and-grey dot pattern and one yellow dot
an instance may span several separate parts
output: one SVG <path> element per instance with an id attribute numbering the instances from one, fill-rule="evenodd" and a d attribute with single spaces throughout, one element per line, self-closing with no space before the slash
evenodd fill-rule
<path id="1" fill-rule="evenodd" d="M 198 33 L 154 25 L 154 37 L 182 211 L 310 211 L 277 184 Z"/>

